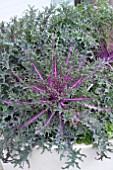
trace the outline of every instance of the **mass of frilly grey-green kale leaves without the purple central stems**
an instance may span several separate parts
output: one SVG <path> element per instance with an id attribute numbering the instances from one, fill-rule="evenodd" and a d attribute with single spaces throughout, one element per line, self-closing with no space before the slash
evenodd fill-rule
<path id="1" fill-rule="evenodd" d="M 97 55 L 101 41 L 109 43 L 113 12 L 106 1 L 95 5 L 98 10 L 84 3 L 76 7 L 63 4 L 60 8 L 46 8 L 44 12 L 30 7 L 22 18 L 0 24 L 0 158 L 3 162 L 22 167 L 23 162 L 28 163 L 35 146 L 51 151 L 54 145 L 61 158 L 66 151 L 65 168 L 74 165 L 79 168 L 78 160 L 84 155 L 74 149 L 77 143 L 92 143 L 98 148 L 100 159 L 107 157 L 113 128 L 113 71 Z M 67 56 L 70 56 L 68 65 Z M 56 77 L 53 76 L 55 61 Z M 33 63 L 44 80 L 37 76 Z M 70 80 L 64 83 L 68 73 Z M 66 87 L 54 101 L 50 94 L 56 95 L 56 86 L 49 89 L 50 76 L 50 84 Z M 72 89 L 80 78 L 82 82 Z M 29 85 L 47 90 L 38 93 Z M 82 98 L 82 101 L 63 102 L 64 108 L 59 107 L 62 96 Z M 40 102 L 42 99 L 46 102 Z M 28 122 L 42 111 L 45 111 L 43 116 Z M 48 126 L 36 133 L 47 121 Z"/>

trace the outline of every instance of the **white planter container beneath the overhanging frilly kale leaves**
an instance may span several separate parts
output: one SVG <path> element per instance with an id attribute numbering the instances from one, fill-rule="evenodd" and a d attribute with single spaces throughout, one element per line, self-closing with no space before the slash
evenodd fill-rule
<path id="1" fill-rule="evenodd" d="M 87 157 L 84 158 L 84 162 L 80 162 L 81 170 L 113 170 L 113 153 L 108 154 L 111 159 L 104 159 L 103 161 L 96 160 L 96 149 L 92 148 L 90 145 L 79 145 L 78 148 L 82 148 L 82 153 L 86 154 Z M 30 158 L 31 168 L 29 169 L 27 165 L 24 166 L 24 170 L 62 170 L 62 166 L 66 159 L 60 161 L 59 155 L 53 149 L 52 153 L 45 152 L 40 154 L 41 151 L 33 150 Z M 2 164 L 4 170 L 21 170 L 20 168 L 14 168 L 11 164 Z M 68 170 L 78 170 L 76 167 L 71 167 Z"/>

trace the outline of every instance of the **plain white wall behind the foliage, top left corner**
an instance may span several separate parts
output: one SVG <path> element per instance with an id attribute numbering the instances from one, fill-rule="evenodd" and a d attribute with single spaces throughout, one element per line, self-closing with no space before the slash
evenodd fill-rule
<path id="1" fill-rule="evenodd" d="M 28 4 L 42 10 L 44 6 L 49 6 L 51 0 L 0 0 L 0 22 L 9 21 L 15 15 L 21 16 L 28 8 Z"/>

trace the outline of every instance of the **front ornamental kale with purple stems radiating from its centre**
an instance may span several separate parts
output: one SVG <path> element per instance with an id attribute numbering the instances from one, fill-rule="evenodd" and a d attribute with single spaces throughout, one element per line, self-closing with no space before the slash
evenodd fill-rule
<path id="1" fill-rule="evenodd" d="M 40 62 L 24 48 L 21 69 L 18 63 L 4 62 L 7 54 L 3 54 L 0 65 L 0 158 L 3 162 L 22 166 L 28 162 L 33 147 L 44 151 L 56 146 L 61 157 L 67 155 L 65 168 L 74 165 L 79 168 L 78 160 L 84 155 L 73 146 L 83 140 L 85 133 L 97 145 L 100 159 L 107 157 L 106 129 L 113 109 L 109 102 L 100 105 L 105 98 L 104 82 L 99 79 L 104 66 L 76 59 L 74 45 L 71 43 L 64 57 L 59 55 L 53 40 L 51 58 Z"/>

